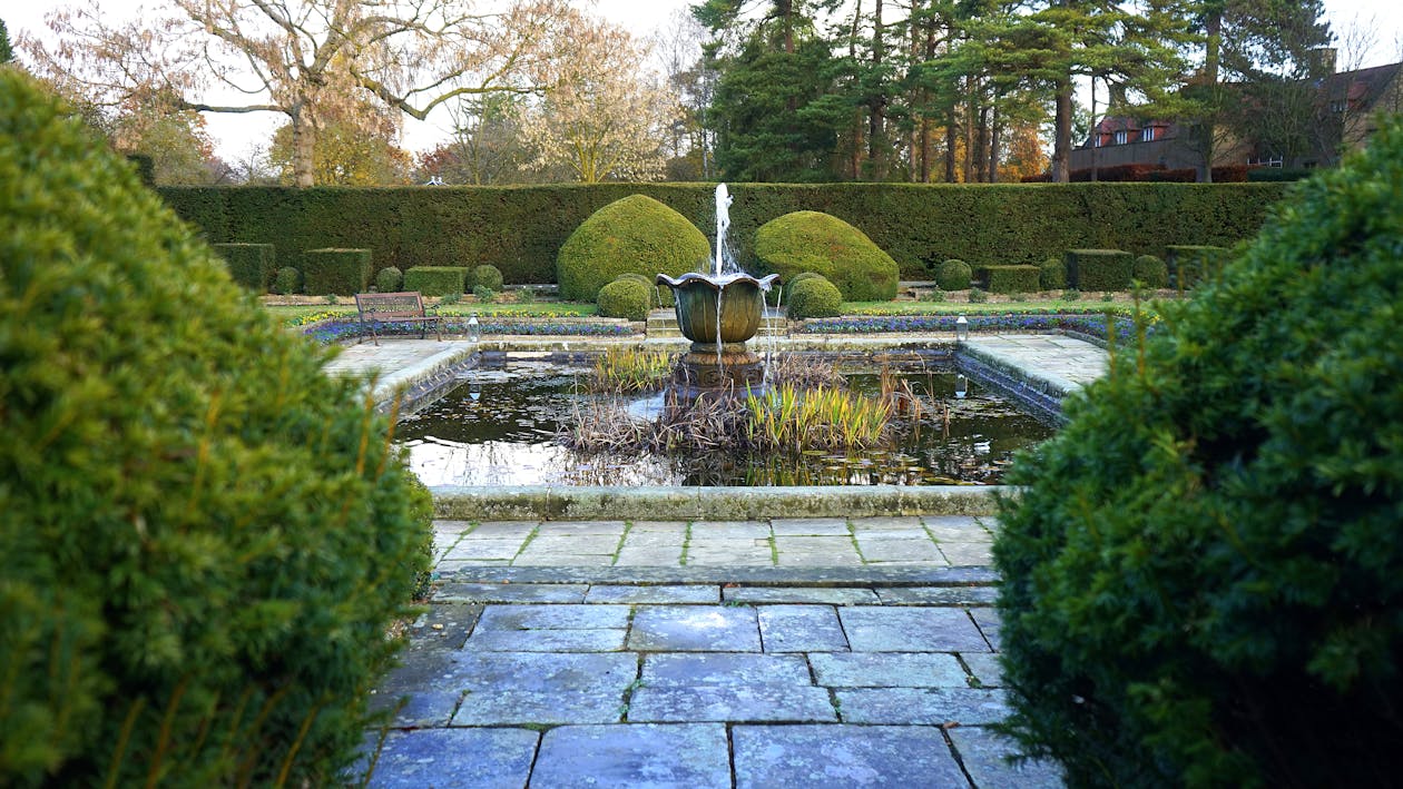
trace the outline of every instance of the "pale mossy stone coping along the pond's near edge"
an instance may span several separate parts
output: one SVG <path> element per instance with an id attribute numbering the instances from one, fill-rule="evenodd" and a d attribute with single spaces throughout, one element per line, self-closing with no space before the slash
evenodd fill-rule
<path id="1" fill-rule="evenodd" d="M 456 486 L 431 488 L 434 516 L 453 520 L 751 520 L 995 514 L 1002 485 L 861 488 Z"/>

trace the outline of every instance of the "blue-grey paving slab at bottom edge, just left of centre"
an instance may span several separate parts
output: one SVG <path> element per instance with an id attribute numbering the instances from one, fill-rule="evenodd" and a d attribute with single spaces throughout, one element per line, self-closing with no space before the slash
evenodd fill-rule
<path id="1" fill-rule="evenodd" d="M 720 723 L 561 726 L 542 737 L 530 785 L 730 789 L 728 751 Z"/>

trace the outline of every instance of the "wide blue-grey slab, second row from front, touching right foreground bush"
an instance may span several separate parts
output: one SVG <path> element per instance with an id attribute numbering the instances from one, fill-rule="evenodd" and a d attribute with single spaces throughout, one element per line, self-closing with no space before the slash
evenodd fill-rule
<path id="1" fill-rule="evenodd" d="M 998 689 L 981 688 L 842 688 L 843 723 L 961 726 L 998 723 L 1009 706 Z"/>

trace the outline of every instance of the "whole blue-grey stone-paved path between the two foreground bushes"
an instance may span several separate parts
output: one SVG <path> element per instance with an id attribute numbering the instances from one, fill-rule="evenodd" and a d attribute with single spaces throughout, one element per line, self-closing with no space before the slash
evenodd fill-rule
<path id="1" fill-rule="evenodd" d="M 370 786 L 1061 785 L 989 729 L 993 523 L 435 526 Z"/>

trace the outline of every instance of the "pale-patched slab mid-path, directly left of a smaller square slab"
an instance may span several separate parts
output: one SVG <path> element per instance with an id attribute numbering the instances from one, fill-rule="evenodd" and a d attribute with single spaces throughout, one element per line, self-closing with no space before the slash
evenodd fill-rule
<path id="1" fill-rule="evenodd" d="M 753 608 L 725 605 L 640 605 L 629 632 L 637 652 L 759 652 Z"/>

